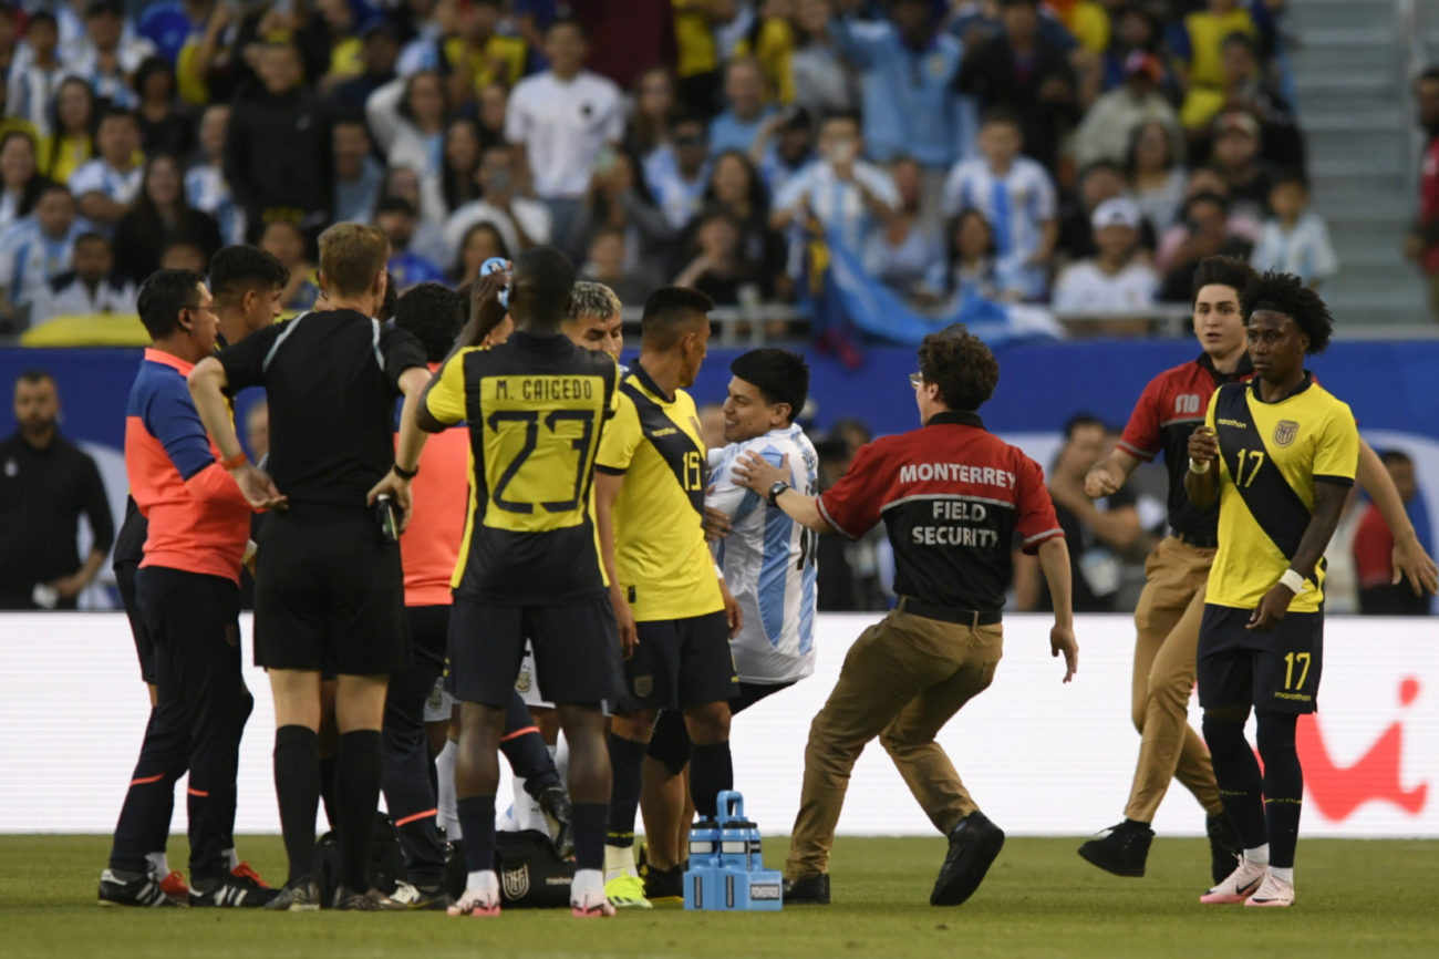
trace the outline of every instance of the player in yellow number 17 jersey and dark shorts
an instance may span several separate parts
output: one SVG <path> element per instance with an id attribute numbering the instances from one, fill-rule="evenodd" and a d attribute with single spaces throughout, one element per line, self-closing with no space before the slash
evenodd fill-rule
<path id="1" fill-rule="evenodd" d="M 1324 549 L 1354 485 L 1354 413 L 1314 382 L 1334 320 L 1292 274 L 1240 294 L 1255 379 L 1226 383 L 1189 438 L 1184 490 L 1219 501 L 1219 551 L 1199 629 L 1199 703 L 1225 814 L 1243 842 L 1204 904 L 1292 906 L 1304 801 L 1298 717 L 1312 713 L 1324 654 Z M 1255 711 L 1259 756 L 1245 739 Z"/>

